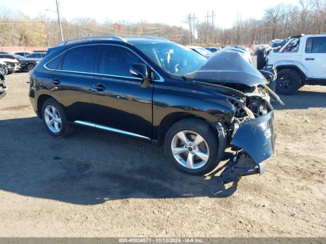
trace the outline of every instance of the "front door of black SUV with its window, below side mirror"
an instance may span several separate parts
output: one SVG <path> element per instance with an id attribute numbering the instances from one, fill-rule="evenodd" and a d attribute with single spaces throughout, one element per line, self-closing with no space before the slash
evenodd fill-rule
<path id="1" fill-rule="evenodd" d="M 144 62 L 128 48 L 101 46 L 92 85 L 92 122 L 102 129 L 150 139 L 153 84 L 141 87 L 141 79 L 129 71 L 134 63 Z"/>

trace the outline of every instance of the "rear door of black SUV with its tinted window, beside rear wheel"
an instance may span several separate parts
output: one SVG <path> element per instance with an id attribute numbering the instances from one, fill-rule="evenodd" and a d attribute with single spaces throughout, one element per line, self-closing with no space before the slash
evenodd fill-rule
<path id="1" fill-rule="evenodd" d="M 98 48 L 98 44 L 77 46 L 46 65 L 50 94 L 64 106 L 70 122 L 92 120 L 91 86 Z"/>

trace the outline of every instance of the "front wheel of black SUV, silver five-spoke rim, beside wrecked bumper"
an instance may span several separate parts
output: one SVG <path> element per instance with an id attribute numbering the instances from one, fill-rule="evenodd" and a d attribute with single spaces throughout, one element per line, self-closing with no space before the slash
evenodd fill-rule
<path id="1" fill-rule="evenodd" d="M 217 133 L 201 119 L 187 118 L 174 124 L 164 147 L 172 164 L 184 173 L 203 175 L 218 165 Z"/>

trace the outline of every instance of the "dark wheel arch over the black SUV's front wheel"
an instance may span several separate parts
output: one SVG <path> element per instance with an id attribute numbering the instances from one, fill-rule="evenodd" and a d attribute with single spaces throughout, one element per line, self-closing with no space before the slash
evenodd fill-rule
<path id="1" fill-rule="evenodd" d="M 216 127 L 210 123 L 207 119 L 203 117 L 199 117 L 192 113 L 187 112 L 173 112 L 166 115 L 160 122 L 158 130 L 157 130 L 157 144 L 162 145 L 164 144 L 165 136 L 168 130 L 178 121 L 185 119 L 185 118 L 198 118 L 205 121 L 213 130 L 216 130 Z"/>

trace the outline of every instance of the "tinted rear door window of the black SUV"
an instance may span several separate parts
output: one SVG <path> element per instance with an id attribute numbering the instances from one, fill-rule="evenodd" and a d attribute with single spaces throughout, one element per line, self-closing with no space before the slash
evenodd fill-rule
<path id="1" fill-rule="evenodd" d="M 62 70 L 94 73 L 98 45 L 70 49 L 62 62 Z"/>

